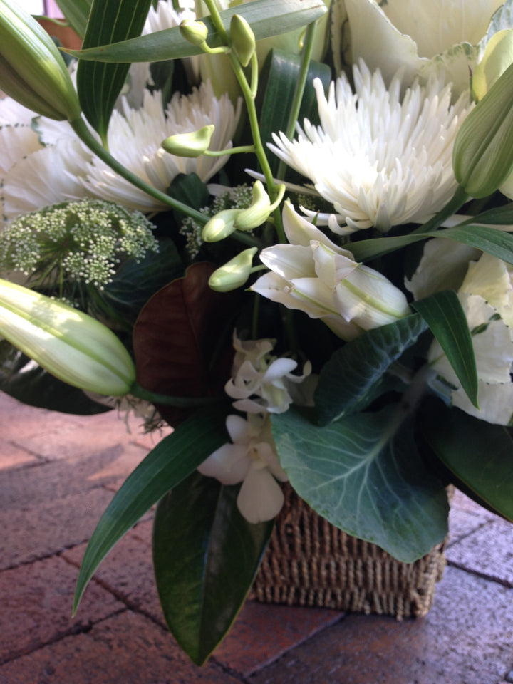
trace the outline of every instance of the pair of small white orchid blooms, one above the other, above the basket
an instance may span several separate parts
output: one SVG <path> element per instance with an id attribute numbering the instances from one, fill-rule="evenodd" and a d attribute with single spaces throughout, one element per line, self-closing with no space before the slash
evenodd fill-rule
<path id="1" fill-rule="evenodd" d="M 216 477 L 222 484 L 242 482 L 237 506 L 251 523 L 274 518 L 284 502 L 276 480 L 286 482 L 271 434 L 271 413 L 283 413 L 291 402 L 294 386 L 311 373 L 305 363 L 304 375 L 293 375 L 297 363 L 291 358 L 271 355 L 274 340 L 243 342 L 234 334 L 233 377 L 225 390 L 234 398 L 234 408 L 245 411 L 227 417 L 227 431 L 232 443 L 214 451 L 199 466 L 202 475 Z"/>

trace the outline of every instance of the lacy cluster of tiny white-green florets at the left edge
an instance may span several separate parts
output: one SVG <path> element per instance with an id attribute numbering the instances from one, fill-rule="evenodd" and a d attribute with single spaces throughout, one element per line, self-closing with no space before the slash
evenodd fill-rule
<path id="1" fill-rule="evenodd" d="M 18 217 L 0 234 L 0 269 L 65 277 L 103 288 L 121 259 L 158 251 L 153 226 L 111 202 L 64 202 Z"/>

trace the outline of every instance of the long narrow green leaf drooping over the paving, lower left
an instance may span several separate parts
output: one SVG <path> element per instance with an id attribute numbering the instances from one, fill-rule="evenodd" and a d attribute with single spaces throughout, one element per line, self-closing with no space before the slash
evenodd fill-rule
<path id="1" fill-rule="evenodd" d="M 164 494 L 227 442 L 226 413 L 222 404 L 198 411 L 159 442 L 128 476 L 90 538 L 78 575 L 73 611 L 95 569 L 123 534 Z"/>

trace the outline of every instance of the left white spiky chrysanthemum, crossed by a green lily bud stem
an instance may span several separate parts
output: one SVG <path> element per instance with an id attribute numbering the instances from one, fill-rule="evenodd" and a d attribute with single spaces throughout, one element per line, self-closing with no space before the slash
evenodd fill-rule
<path id="1" fill-rule="evenodd" d="M 202 83 L 191 95 L 173 95 L 166 110 L 162 110 L 161 94 L 145 92 L 142 107 L 133 110 L 124 103 L 123 113 L 115 111 L 108 130 L 110 153 L 149 185 L 165 192 L 180 173 L 196 173 L 207 182 L 227 162 L 224 157 L 175 157 L 160 147 L 162 140 L 175 133 L 190 133 L 205 125 L 214 124 L 211 149 L 232 147 L 241 102 L 234 108 L 224 95 L 217 99 L 210 83 Z M 166 208 L 157 199 L 146 195 L 104 162 L 95 158 L 86 166 L 83 180 L 88 192 L 100 199 L 118 202 L 128 209 L 141 212 L 162 211 Z"/>

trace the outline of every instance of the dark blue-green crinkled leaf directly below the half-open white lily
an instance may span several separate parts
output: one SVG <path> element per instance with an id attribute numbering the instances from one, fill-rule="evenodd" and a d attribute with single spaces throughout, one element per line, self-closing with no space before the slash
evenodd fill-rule
<path id="1" fill-rule="evenodd" d="M 369 330 L 338 349 L 319 375 L 315 403 L 319 423 L 327 425 L 343 415 L 362 410 L 375 398 L 375 386 L 427 324 L 419 314 Z"/>

